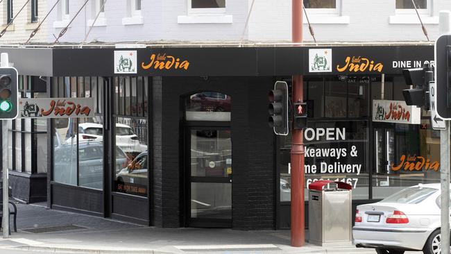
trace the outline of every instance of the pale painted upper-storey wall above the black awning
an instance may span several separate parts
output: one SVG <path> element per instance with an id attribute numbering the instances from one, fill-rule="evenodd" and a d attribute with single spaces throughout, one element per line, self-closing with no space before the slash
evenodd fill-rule
<path id="1" fill-rule="evenodd" d="M 46 15 L 57 0 L 40 0 L 40 18 Z M 61 0 L 64 1 L 64 0 Z M 94 4 L 89 0 L 74 19 L 60 42 L 79 43 L 85 40 L 90 30 L 87 24 L 96 14 Z M 423 15 L 423 22 L 429 33 L 430 40 L 435 40 L 438 33 L 439 10 L 451 10 L 451 0 L 430 0 L 433 3 L 432 12 Z M 15 13 L 26 0 L 14 0 Z M 69 0 L 70 15 L 74 17 L 85 0 Z M 94 26 L 86 41 L 101 42 L 238 42 L 244 34 L 244 40 L 253 42 L 290 42 L 291 41 L 291 0 L 255 0 L 250 14 L 248 28 L 244 26 L 248 11 L 253 0 L 227 0 L 226 13 L 228 17 L 207 17 L 205 21 L 221 21 L 219 23 L 200 23 L 199 17 L 189 15 L 187 0 L 142 0 L 142 24 L 123 24 L 123 18 L 128 17 L 130 0 L 107 0 L 105 17 Z M 325 17 L 309 12 L 316 40 L 318 42 L 355 42 L 355 41 L 424 41 L 416 15 L 395 15 L 395 0 L 341 0 L 341 15 Z M 0 24 L 6 23 L 6 0 L 0 3 Z M 60 6 L 53 10 L 32 42 L 53 43 L 63 26 L 54 26 L 60 20 Z M 432 13 L 432 17 L 431 17 Z M 28 39 L 37 24 L 29 24 L 31 4 L 17 17 L 0 43 L 23 43 Z M 391 24 L 393 18 L 401 23 Z M 194 20 L 194 23 L 181 23 L 182 20 Z M 339 23 L 337 24 L 337 20 Z M 343 22 L 343 20 L 345 22 Z M 55 23 L 55 21 L 57 21 Z M 61 22 L 60 22 L 61 23 Z M 3 28 L 0 27 L 0 28 Z M 307 24 L 304 26 L 304 40 L 312 41 Z"/>

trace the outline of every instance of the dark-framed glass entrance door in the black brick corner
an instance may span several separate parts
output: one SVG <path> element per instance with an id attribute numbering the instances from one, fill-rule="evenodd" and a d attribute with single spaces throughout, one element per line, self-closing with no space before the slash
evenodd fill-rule
<path id="1" fill-rule="evenodd" d="M 232 142 L 226 128 L 190 128 L 188 226 L 232 226 Z"/>

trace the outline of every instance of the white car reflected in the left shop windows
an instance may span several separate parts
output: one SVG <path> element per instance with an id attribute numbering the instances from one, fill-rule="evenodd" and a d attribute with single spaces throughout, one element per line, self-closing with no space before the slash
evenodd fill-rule
<path id="1" fill-rule="evenodd" d="M 70 130 L 67 130 L 68 132 Z M 133 133 L 132 128 L 126 124 L 116 124 L 116 146 L 119 146 L 125 153 L 141 153 L 147 150 L 147 146 L 139 143 L 138 136 Z M 75 134 L 75 133 L 74 133 Z M 66 135 L 68 138 L 65 143 L 71 143 L 71 135 Z M 78 141 L 83 142 L 87 140 L 94 140 L 97 142 L 103 141 L 103 126 L 101 124 L 83 123 L 78 124 Z"/>

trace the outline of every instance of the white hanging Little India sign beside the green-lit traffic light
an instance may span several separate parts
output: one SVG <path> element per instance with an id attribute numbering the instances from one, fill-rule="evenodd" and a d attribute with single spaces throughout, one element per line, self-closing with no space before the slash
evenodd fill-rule
<path id="1" fill-rule="evenodd" d="M 19 99 L 20 117 L 94 117 L 93 98 Z"/>

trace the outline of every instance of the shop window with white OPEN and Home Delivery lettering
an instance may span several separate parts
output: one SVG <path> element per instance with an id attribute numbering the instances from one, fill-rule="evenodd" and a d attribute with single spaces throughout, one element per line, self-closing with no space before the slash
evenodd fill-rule
<path id="1" fill-rule="evenodd" d="M 308 185 L 321 179 L 352 185 L 353 199 L 368 198 L 368 121 L 309 121 L 304 142 L 306 201 Z M 280 202 L 291 200 L 290 143 L 280 139 Z"/>

